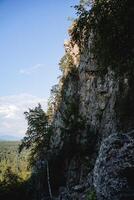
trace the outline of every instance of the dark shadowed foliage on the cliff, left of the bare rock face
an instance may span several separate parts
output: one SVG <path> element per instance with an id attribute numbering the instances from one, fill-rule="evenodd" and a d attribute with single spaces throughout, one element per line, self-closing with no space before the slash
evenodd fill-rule
<path id="1" fill-rule="evenodd" d="M 77 142 L 77 136 L 85 128 L 85 119 L 79 114 L 79 100 L 77 96 L 66 99 L 64 109 L 61 110 L 61 119 L 63 126 L 60 127 L 64 149 L 62 154 L 71 157 L 74 154 L 79 154 L 81 151 L 80 144 Z"/>

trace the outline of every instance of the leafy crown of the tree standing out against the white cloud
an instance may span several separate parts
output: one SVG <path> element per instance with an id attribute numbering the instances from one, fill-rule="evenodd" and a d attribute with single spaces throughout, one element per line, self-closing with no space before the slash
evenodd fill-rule
<path id="1" fill-rule="evenodd" d="M 48 116 L 40 104 L 24 114 L 28 128 L 19 150 L 21 152 L 24 148 L 30 149 L 31 165 L 34 165 L 37 161 L 44 160 L 52 129 L 48 122 Z"/>

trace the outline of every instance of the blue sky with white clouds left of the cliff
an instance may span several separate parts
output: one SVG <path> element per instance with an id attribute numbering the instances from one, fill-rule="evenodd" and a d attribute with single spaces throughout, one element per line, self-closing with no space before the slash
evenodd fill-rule
<path id="1" fill-rule="evenodd" d="M 24 136 L 24 111 L 46 109 L 78 2 L 0 0 L 0 135 Z"/>

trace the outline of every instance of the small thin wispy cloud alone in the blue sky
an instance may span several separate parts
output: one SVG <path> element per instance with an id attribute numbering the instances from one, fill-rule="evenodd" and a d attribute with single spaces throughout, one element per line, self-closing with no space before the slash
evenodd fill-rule
<path id="1" fill-rule="evenodd" d="M 41 69 L 44 65 L 43 64 L 36 64 L 32 67 L 27 67 L 27 68 L 24 68 L 24 69 L 20 69 L 19 70 L 19 73 L 20 74 L 26 74 L 26 75 L 30 75 L 34 72 L 36 72 L 38 69 Z"/>

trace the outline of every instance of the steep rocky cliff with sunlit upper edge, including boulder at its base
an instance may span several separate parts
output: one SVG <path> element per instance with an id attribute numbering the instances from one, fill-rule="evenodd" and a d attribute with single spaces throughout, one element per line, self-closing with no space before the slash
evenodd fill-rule
<path id="1" fill-rule="evenodd" d="M 125 11 L 127 15 L 128 10 Z M 127 23 L 130 16 L 127 15 Z M 86 40 L 81 41 L 83 51 L 72 37 L 78 22 L 69 30 L 70 41 L 65 42 L 72 66 L 64 70 L 59 83 L 60 100 L 47 152 L 52 193 L 60 200 L 131 200 L 134 199 L 133 68 L 129 63 L 125 65 L 124 60 L 113 67 L 118 52 L 111 56 L 111 65 L 99 68 L 91 51 L 93 40 L 89 29 L 84 31 Z M 123 23 L 121 27 L 125 26 Z M 125 34 L 133 43 L 129 28 L 128 23 Z M 132 54 L 128 54 L 132 61 Z M 103 56 L 107 59 L 107 55 Z"/>

